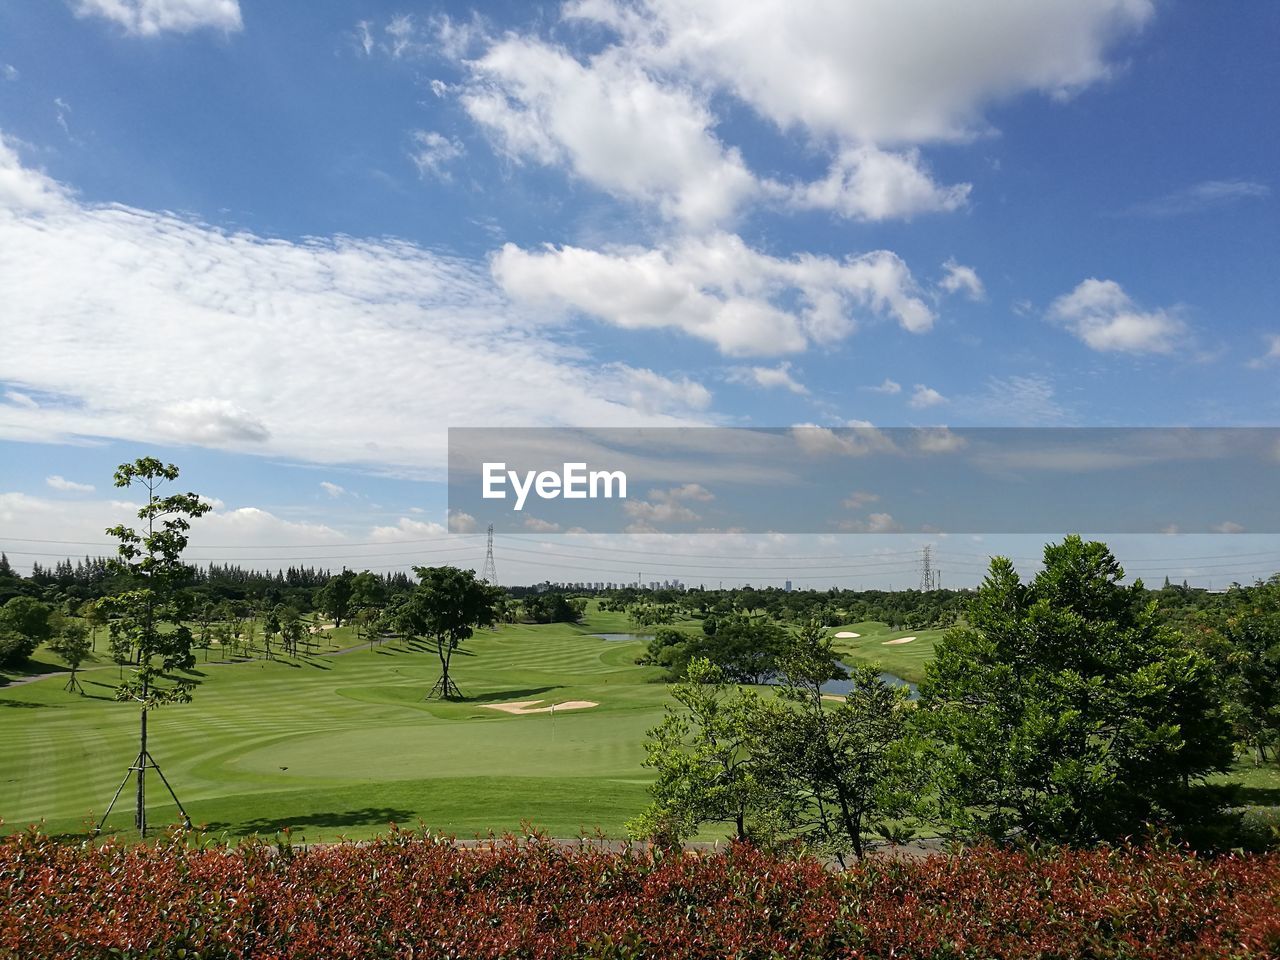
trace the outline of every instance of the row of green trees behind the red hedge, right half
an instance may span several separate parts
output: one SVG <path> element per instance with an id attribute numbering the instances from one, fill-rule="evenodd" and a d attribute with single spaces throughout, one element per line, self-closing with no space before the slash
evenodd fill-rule
<path id="1" fill-rule="evenodd" d="M 1030 582 L 993 559 L 918 703 L 870 669 L 823 696 L 842 666 L 817 622 L 781 637 L 777 696 L 695 655 L 650 732 L 658 780 L 632 829 L 678 840 L 728 823 L 860 855 L 869 836 L 924 822 L 1070 844 L 1204 828 L 1230 801 L 1207 780 L 1236 739 L 1260 755 L 1276 744 L 1280 581 L 1208 643 L 1162 622 L 1123 576 L 1105 544 L 1078 536 L 1047 547 Z"/>

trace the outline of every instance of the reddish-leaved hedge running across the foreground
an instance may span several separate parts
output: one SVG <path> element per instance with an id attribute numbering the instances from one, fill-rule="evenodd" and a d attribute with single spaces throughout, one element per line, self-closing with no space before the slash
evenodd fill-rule
<path id="1" fill-rule="evenodd" d="M 1265 957 L 1280 856 L 973 850 L 837 874 L 749 847 L 0 844 L 5 957 Z"/>

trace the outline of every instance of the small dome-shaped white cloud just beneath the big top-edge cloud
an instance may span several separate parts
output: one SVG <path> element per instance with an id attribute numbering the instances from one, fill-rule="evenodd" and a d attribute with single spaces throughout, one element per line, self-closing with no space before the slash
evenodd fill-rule
<path id="1" fill-rule="evenodd" d="M 832 210 L 855 220 L 910 219 L 918 214 L 959 210 L 970 184 L 940 187 L 922 166 L 919 151 L 891 154 L 872 146 L 845 150 L 826 179 L 791 189 L 800 209 Z"/>

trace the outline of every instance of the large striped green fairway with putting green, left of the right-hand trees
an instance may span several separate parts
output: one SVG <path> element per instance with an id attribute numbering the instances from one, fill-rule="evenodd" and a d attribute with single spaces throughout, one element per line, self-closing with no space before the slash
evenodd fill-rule
<path id="1" fill-rule="evenodd" d="M 298 662 L 201 663 L 195 701 L 151 714 L 152 754 L 197 824 L 234 835 L 292 826 L 314 840 L 358 837 L 419 819 L 463 836 L 522 820 L 558 835 L 620 833 L 645 804 L 644 735 L 667 696 L 653 669 L 635 666 L 641 644 L 589 635 L 626 626 L 603 614 L 584 627 L 481 631 L 454 655 L 463 703 L 424 700 L 436 658 L 399 641 Z M 0 689 L 5 829 L 40 819 L 54 832 L 82 829 L 137 751 L 137 709 L 110 699 L 116 668 L 81 676 L 83 698 L 56 677 Z M 486 707 L 511 700 L 599 707 Z M 175 819 L 157 778 L 147 790 L 152 820 Z M 131 791 L 109 829 L 129 828 Z"/>

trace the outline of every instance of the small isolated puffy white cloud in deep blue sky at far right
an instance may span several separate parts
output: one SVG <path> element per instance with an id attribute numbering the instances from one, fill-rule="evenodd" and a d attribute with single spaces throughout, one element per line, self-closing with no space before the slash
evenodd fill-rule
<path id="1" fill-rule="evenodd" d="M 1142 311 L 1115 280 L 1083 280 L 1050 305 L 1048 316 L 1091 349 L 1170 353 L 1187 333 L 1169 310 Z"/>

